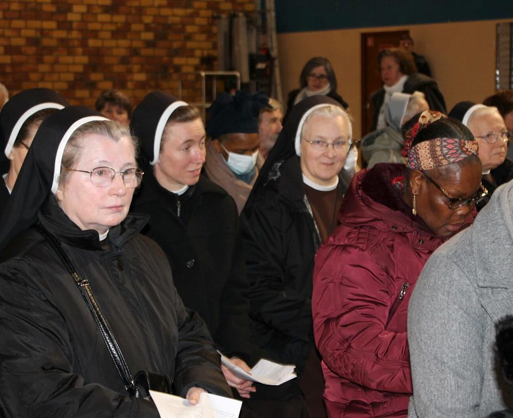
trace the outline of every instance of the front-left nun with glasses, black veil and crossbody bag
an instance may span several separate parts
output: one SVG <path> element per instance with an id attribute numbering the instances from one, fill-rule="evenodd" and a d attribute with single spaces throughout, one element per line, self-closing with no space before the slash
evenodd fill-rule
<path id="1" fill-rule="evenodd" d="M 135 156 L 127 127 L 85 107 L 37 131 L 0 223 L 6 417 L 157 418 L 148 388 L 230 396 L 204 322 L 139 234 L 147 217 L 128 213 Z"/>

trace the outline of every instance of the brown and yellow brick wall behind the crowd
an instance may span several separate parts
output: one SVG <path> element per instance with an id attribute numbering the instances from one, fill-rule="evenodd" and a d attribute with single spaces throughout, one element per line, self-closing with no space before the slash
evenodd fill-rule
<path id="1" fill-rule="evenodd" d="M 0 1 L 0 82 L 10 94 L 47 87 L 93 106 L 115 88 L 134 105 L 151 90 L 201 97 L 199 70 L 214 70 L 213 16 L 250 12 L 254 0 Z"/>

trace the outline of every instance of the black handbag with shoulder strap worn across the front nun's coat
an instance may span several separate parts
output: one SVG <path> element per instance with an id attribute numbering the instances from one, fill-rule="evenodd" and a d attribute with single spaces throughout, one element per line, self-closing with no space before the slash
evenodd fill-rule
<path id="1" fill-rule="evenodd" d="M 172 379 L 167 374 L 153 373 L 145 370 L 141 370 L 132 378 L 130 373 L 130 369 L 125 361 L 125 357 L 123 356 L 123 352 L 121 351 L 120 346 L 117 344 L 116 338 L 112 333 L 112 330 L 107 322 L 105 316 L 100 309 L 100 305 L 96 302 L 96 298 L 91 290 L 91 286 L 89 285 L 89 281 L 86 278 L 82 278 L 75 270 L 71 261 L 69 260 L 66 253 L 63 251 L 61 245 L 56 240 L 56 238 L 48 232 L 42 225 L 36 225 L 35 228 L 41 232 L 41 234 L 46 238 L 49 242 L 50 246 L 57 253 L 61 261 L 66 266 L 67 270 L 73 277 L 75 284 L 80 290 L 84 301 L 86 302 L 91 314 L 100 329 L 100 332 L 105 341 L 105 345 L 109 350 L 110 356 L 112 357 L 112 361 L 114 362 L 114 366 L 117 369 L 117 372 L 120 374 L 121 380 L 123 381 L 123 385 L 127 390 L 128 394 L 133 397 L 143 397 L 148 398 L 150 396 L 149 391 L 155 390 L 159 392 L 165 393 L 173 393 L 173 383 Z"/>

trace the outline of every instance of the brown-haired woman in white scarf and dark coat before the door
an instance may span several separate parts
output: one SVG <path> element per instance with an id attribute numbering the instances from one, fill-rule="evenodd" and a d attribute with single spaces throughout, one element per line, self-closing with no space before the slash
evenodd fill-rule
<path id="1" fill-rule="evenodd" d="M 386 48 L 378 54 L 383 87 L 372 93 L 370 101 L 374 107 L 372 130 L 386 127 L 385 115 L 393 93 L 424 93 L 429 109 L 447 113 L 445 99 L 438 89 L 437 82 L 417 72 L 410 53 L 401 48 Z"/>

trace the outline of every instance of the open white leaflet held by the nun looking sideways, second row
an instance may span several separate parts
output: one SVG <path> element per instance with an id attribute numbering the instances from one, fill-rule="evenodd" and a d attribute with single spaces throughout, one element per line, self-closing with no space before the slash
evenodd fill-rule
<path id="1" fill-rule="evenodd" d="M 221 362 L 230 369 L 235 376 L 241 379 L 263 383 L 264 385 L 278 386 L 297 377 L 294 373 L 295 366 L 274 363 L 266 359 L 260 359 L 250 370 L 250 373 L 247 373 L 236 366 L 228 357 L 223 355 L 223 353 L 219 353 L 221 354 Z"/>

